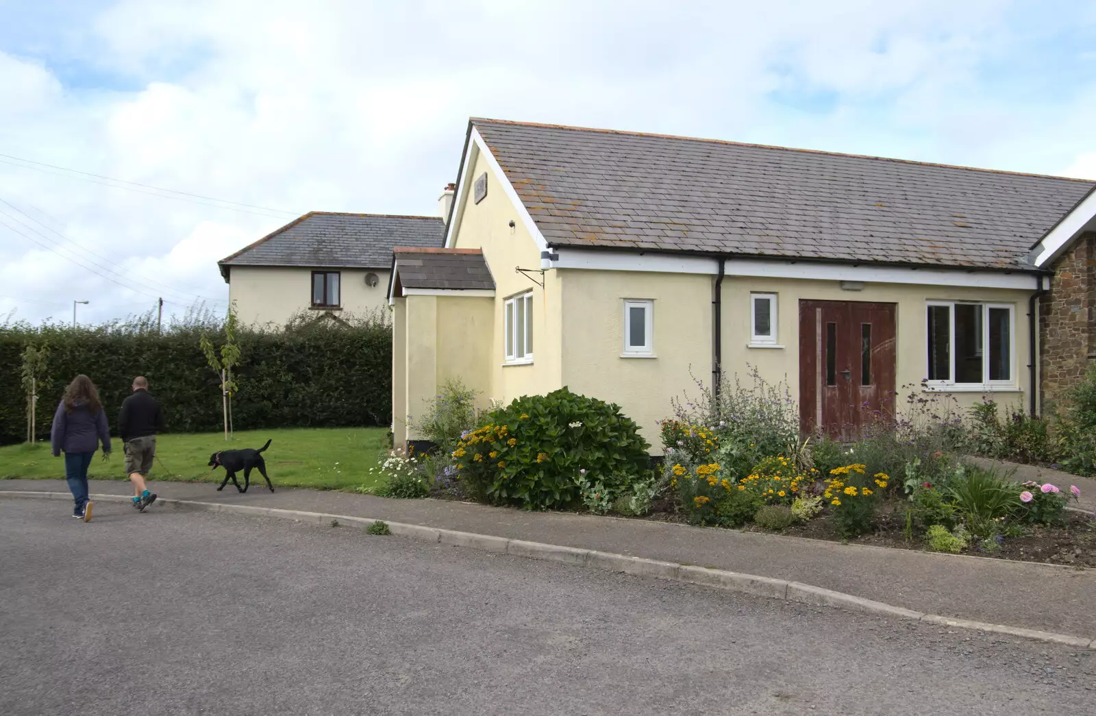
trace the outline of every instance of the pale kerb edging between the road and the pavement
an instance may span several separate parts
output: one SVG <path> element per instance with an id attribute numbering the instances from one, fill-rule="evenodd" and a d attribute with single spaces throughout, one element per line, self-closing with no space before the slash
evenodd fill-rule
<path id="1" fill-rule="evenodd" d="M 122 503 L 129 502 L 132 499 L 125 495 L 92 495 L 90 497 L 92 500 L 96 501 Z M 68 492 L 30 490 L 0 490 L 0 498 L 46 500 L 72 499 Z M 373 524 L 373 522 L 376 522 L 373 518 L 327 514 L 322 512 L 305 512 L 301 510 L 284 510 L 281 508 L 261 508 L 249 504 L 227 504 L 224 502 L 161 499 L 157 502 L 157 504 L 179 510 L 194 509 L 205 512 L 250 514 L 255 516 L 294 520 L 296 522 L 308 522 L 312 524 L 330 524 L 332 520 L 335 520 L 339 521 L 340 524 L 346 524 L 347 526 L 353 525 L 354 527 L 359 529 L 365 529 Z M 723 569 L 708 569 L 706 567 L 697 567 L 695 565 L 680 565 L 676 562 L 659 561 L 657 559 L 631 557 L 628 555 L 618 555 L 594 549 L 586 550 L 575 547 L 526 542 L 524 539 L 510 539 L 506 537 L 482 535 L 471 532 L 441 530 L 402 522 L 388 522 L 387 524 L 389 531 L 393 535 L 406 536 L 412 539 L 435 544 L 441 543 L 486 552 L 506 553 L 517 557 L 549 559 L 575 566 L 584 565 L 586 567 L 604 569 L 606 571 L 618 571 L 639 577 L 669 579 L 689 584 L 713 587 L 716 589 L 726 589 L 785 601 L 834 606 L 848 611 L 868 612 L 883 616 L 921 621 L 927 624 L 937 624 L 940 626 L 950 626 L 961 629 L 1004 634 L 1038 641 L 1060 644 L 1074 648 L 1096 649 L 1096 639 L 1087 637 L 1055 634 L 1053 632 L 1040 632 L 1037 629 L 1026 629 L 1005 624 L 989 624 L 986 622 L 940 616 L 938 614 L 922 614 L 921 612 L 915 612 L 901 606 L 894 606 L 883 602 L 876 602 L 860 596 L 855 596 L 853 594 L 845 594 L 843 592 L 835 592 L 821 587 L 803 584 L 801 582 L 791 582 L 783 579 L 773 579 L 756 575 L 744 575 Z"/>

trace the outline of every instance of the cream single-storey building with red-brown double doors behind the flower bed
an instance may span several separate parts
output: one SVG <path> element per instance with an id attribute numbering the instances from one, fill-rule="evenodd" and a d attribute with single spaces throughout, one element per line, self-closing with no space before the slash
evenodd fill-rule
<path id="1" fill-rule="evenodd" d="M 472 120 L 445 249 L 395 251 L 396 441 L 450 376 L 484 401 L 569 386 L 652 444 L 694 378 L 749 366 L 807 432 L 897 391 L 1038 412 L 1096 356 L 1094 186 Z"/>

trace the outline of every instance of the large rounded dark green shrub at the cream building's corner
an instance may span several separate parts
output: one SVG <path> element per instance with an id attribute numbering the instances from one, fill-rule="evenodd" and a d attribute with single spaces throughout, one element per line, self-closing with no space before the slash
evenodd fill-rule
<path id="1" fill-rule="evenodd" d="M 648 443 L 619 406 L 566 387 L 486 413 L 453 451 L 470 496 L 533 510 L 580 501 L 576 479 L 619 493 L 648 471 Z"/>

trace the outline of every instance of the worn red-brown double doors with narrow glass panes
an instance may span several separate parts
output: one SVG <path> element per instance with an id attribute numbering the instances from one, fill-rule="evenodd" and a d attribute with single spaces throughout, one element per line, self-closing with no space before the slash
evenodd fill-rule
<path id="1" fill-rule="evenodd" d="M 893 414 L 894 304 L 799 302 L 799 422 L 850 441 L 877 411 Z"/>

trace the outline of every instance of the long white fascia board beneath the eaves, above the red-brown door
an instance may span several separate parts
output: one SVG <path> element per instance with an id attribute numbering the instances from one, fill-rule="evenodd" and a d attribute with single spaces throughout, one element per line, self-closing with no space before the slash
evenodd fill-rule
<path id="1" fill-rule="evenodd" d="M 556 249 L 559 259 L 553 269 L 594 271 L 653 271 L 661 273 L 711 274 L 719 272 L 719 260 L 666 253 L 626 251 L 583 251 Z M 728 276 L 801 279 L 804 281 L 855 281 L 864 283 L 904 283 L 931 286 L 974 286 L 978 288 L 1016 288 L 1034 291 L 1038 276 L 1032 273 L 1003 273 L 963 269 L 905 269 L 901 266 L 845 265 L 808 261 L 735 259 L 724 264 Z"/>

